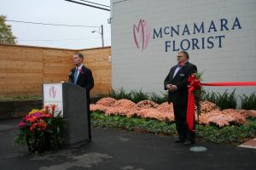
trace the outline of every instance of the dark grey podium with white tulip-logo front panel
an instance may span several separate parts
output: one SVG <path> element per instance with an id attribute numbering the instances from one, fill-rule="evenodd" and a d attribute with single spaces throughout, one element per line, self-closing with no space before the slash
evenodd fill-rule
<path id="1" fill-rule="evenodd" d="M 67 119 L 63 136 L 67 146 L 86 144 L 89 141 L 89 125 L 86 90 L 71 82 L 44 83 L 45 105 L 56 105 L 56 112 Z"/>

